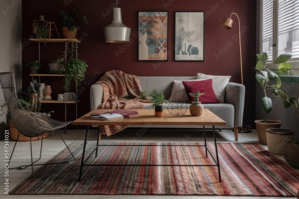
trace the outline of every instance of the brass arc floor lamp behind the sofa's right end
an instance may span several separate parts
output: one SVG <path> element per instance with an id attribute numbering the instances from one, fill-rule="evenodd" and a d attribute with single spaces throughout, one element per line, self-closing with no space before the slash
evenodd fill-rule
<path id="1" fill-rule="evenodd" d="M 238 19 L 238 25 L 239 25 L 239 49 L 240 49 L 240 70 L 241 70 L 241 84 L 243 84 L 243 71 L 242 71 L 242 52 L 241 52 L 241 34 L 240 34 L 240 20 L 239 17 L 236 13 L 231 13 L 231 15 L 234 14 L 236 15 Z M 228 18 L 225 18 L 220 24 L 222 28 L 225 29 L 231 29 L 231 26 L 233 25 L 233 20 L 231 19 L 231 15 Z M 243 128 L 243 122 L 242 122 L 242 127 L 238 128 L 238 132 L 245 132 L 245 133 L 250 133 L 250 129 Z"/>

